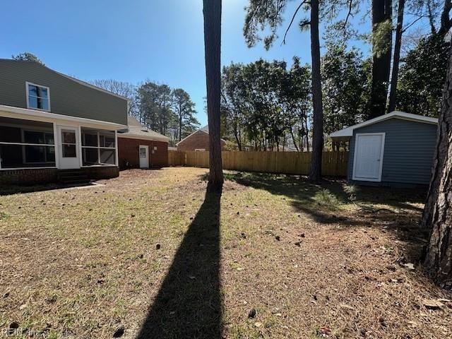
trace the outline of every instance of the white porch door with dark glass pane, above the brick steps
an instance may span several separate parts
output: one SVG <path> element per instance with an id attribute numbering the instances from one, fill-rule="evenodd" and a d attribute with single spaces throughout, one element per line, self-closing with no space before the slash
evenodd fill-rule
<path id="1" fill-rule="evenodd" d="M 59 168 L 80 168 L 80 154 L 78 145 L 78 128 L 69 126 L 57 126 L 59 140 Z"/>

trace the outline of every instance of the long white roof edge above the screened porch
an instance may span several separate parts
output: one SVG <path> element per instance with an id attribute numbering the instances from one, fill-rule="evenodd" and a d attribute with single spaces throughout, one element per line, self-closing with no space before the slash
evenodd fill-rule
<path id="1" fill-rule="evenodd" d="M 24 119 L 32 121 L 43 121 L 57 124 L 78 124 L 94 129 L 127 129 L 127 125 L 116 124 L 109 121 L 100 121 L 95 119 L 71 117 L 64 114 L 55 114 L 51 112 L 40 111 L 36 109 L 12 107 L 0 105 L 0 117 L 8 117 L 13 119 Z"/>

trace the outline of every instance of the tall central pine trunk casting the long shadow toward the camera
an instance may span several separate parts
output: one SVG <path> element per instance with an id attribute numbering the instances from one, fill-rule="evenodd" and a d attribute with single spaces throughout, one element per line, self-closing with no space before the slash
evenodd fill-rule
<path id="1" fill-rule="evenodd" d="M 203 0 L 204 51 L 206 58 L 207 116 L 209 124 L 210 191 L 222 188 L 223 172 L 220 141 L 220 54 L 221 0 Z"/>

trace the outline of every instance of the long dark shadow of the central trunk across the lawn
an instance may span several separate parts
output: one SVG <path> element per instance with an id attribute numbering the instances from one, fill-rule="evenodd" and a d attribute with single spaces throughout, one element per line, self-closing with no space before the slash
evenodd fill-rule
<path id="1" fill-rule="evenodd" d="M 206 194 L 137 339 L 221 338 L 220 198 Z"/>

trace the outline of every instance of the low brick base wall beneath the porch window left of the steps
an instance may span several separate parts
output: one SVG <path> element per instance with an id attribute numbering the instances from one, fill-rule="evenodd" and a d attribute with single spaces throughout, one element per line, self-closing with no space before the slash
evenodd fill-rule
<path id="1" fill-rule="evenodd" d="M 0 171 L 0 184 L 32 185 L 57 182 L 58 169 L 30 168 Z"/>

